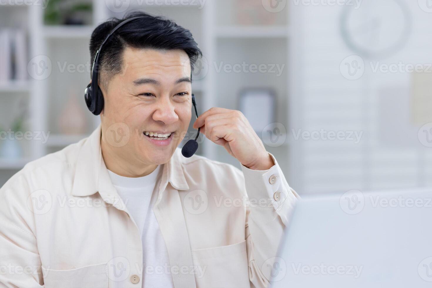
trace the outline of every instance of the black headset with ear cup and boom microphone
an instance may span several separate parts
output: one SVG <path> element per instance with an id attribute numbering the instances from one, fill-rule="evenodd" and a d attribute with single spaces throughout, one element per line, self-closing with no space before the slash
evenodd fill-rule
<path id="1" fill-rule="evenodd" d="M 84 100 L 86 101 L 87 108 L 89 108 L 90 112 L 92 112 L 93 114 L 95 115 L 101 114 L 102 109 L 104 108 L 104 95 L 102 95 L 102 91 L 98 85 L 99 67 L 100 67 L 99 56 L 103 45 L 106 43 L 106 41 L 108 41 L 111 35 L 113 35 L 118 28 L 120 28 L 121 26 L 123 26 L 124 24 L 130 21 L 140 19 L 140 18 L 145 18 L 145 17 L 146 16 L 132 17 L 120 22 L 117 26 L 114 27 L 114 29 L 111 30 L 111 32 L 102 42 L 98 51 L 96 51 L 95 59 L 93 61 L 93 66 L 92 66 L 91 78 L 90 78 L 92 82 L 89 85 L 87 85 L 86 90 L 84 91 Z M 191 80 L 192 80 L 192 72 L 191 72 Z M 195 115 L 198 118 L 197 103 L 195 102 L 194 94 L 192 94 L 192 104 L 194 105 Z M 198 128 L 198 133 L 197 136 L 195 137 L 195 140 L 190 139 L 189 141 L 186 142 L 186 144 L 184 144 L 183 148 L 181 149 L 181 154 L 183 154 L 184 157 L 189 158 L 195 154 L 195 152 L 198 149 L 197 139 L 199 135 L 200 135 L 200 128 Z"/>

